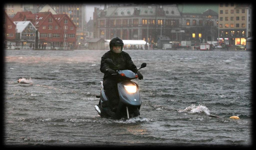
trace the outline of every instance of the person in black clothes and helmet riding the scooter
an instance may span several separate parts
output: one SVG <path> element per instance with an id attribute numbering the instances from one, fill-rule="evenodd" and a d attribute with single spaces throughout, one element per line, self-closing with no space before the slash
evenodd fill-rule
<path id="1" fill-rule="evenodd" d="M 107 107 L 112 112 L 116 112 L 119 104 L 117 84 L 122 80 L 118 75 L 114 75 L 117 74 L 116 70 L 131 70 L 138 75 L 138 79 L 143 79 L 130 55 L 123 51 L 123 46 L 124 43 L 121 38 L 113 37 L 109 42 L 110 50 L 101 57 L 100 71 L 104 73 L 103 87 L 109 99 L 107 105 L 102 107 Z M 112 59 L 116 66 L 105 63 L 105 59 Z"/>

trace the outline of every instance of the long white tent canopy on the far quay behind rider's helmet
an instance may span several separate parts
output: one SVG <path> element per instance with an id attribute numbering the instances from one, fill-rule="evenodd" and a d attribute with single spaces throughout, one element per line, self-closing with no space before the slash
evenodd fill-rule
<path id="1" fill-rule="evenodd" d="M 109 49 L 110 39 L 105 40 L 105 48 Z M 145 49 L 146 41 L 144 40 L 123 40 L 124 48 L 123 49 Z M 149 47 L 149 43 L 147 43 Z"/>

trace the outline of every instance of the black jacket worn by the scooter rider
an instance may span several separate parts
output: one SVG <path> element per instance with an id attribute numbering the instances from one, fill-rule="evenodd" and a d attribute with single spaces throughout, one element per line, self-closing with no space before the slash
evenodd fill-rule
<path id="1" fill-rule="evenodd" d="M 110 74 L 108 73 L 108 69 L 112 69 L 114 71 L 118 70 L 118 68 L 114 65 L 108 65 L 105 63 L 105 59 L 112 59 L 114 64 L 116 64 L 120 70 L 131 70 L 134 73 L 137 73 L 137 67 L 134 65 L 130 55 L 124 51 L 121 53 L 114 53 L 111 50 L 107 51 L 102 57 L 101 57 L 101 64 L 100 64 L 100 71 L 104 73 L 103 80 L 110 77 Z"/>

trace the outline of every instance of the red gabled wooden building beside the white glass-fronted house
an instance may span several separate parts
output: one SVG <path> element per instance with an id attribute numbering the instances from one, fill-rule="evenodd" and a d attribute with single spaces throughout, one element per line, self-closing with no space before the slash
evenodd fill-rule
<path id="1" fill-rule="evenodd" d="M 46 45 L 46 49 L 67 50 L 76 46 L 76 25 L 65 14 L 17 12 L 12 21 L 31 21 L 39 32 L 38 45 Z"/>

